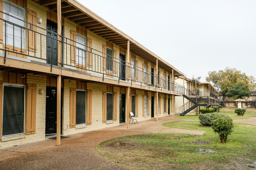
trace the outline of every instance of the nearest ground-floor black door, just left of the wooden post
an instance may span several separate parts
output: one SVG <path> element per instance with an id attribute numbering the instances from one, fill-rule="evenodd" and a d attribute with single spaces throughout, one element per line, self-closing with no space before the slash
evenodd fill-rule
<path id="1" fill-rule="evenodd" d="M 46 87 L 45 134 L 57 133 L 57 89 Z"/>

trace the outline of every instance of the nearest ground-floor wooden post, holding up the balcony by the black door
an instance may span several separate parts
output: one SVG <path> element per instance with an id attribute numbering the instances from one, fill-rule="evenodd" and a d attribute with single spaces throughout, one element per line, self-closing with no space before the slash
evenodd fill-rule
<path id="1" fill-rule="evenodd" d="M 57 76 L 57 146 L 60 143 L 60 133 L 61 133 L 61 75 Z"/>

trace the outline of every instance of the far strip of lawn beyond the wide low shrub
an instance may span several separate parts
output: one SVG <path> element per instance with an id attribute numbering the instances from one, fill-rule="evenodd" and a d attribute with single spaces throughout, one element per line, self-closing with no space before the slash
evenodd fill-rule
<path id="1" fill-rule="evenodd" d="M 237 116 L 235 113 L 236 108 L 221 108 L 219 113 L 223 113 L 226 115 L 229 115 L 232 119 L 248 119 L 248 118 L 253 118 L 256 117 L 256 110 L 255 109 L 247 109 L 245 114 L 243 116 Z M 218 113 L 218 112 L 214 112 Z M 180 119 L 193 119 L 193 120 L 198 120 L 198 115 L 184 115 L 184 116 L 178 116 L 176 118 Z"/>

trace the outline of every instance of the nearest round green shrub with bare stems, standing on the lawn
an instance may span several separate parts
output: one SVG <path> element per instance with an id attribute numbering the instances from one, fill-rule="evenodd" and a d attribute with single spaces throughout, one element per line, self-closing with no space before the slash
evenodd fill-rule
<path id="1" fill-rule="evenodd" d="M 219 134 L 221 143 L 226 143 L 228 135 L 233 132 L 233 121 L 224 117 L 219 117 L 211 122 L 211 128 Z"/>

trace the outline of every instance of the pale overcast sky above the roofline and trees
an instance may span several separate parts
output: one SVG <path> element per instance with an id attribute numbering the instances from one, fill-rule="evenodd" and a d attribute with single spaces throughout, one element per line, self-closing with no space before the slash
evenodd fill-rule
<path id="1" fill-rule="evenodd" d="M 188 78 L 256 78 L 256 0 L 78 0 Z"/>

